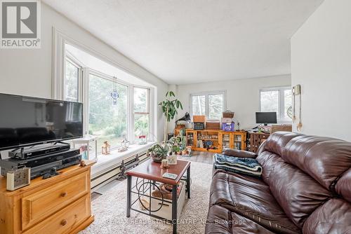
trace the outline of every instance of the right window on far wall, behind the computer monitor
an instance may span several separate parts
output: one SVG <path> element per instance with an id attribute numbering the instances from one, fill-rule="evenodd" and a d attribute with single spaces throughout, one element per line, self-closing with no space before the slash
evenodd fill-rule
<path id="1" fill-rule="evenodd" d="M 260 111 L 277 112 L 279 122 L 291 122 L 291 88 L 266 88 L 260 90 Z"/>

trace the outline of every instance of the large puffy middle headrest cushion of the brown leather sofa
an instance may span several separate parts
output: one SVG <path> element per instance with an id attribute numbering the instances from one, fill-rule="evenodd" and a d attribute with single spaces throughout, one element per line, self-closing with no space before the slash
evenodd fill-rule
<path id="1" fill-rule="evenodd" d="M 333 191 L 333 181 L 351 167 L 351 143 L 304 135 L 286 144 L 282 158 Z"/>

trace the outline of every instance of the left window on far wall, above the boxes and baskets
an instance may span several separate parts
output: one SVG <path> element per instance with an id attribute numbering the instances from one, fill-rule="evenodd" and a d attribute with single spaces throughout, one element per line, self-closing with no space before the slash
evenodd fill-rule
<path id="1" fill-rule="evenodd" d="M 207 116 L 220 120 L 225 111 L 225 91 L 206 92 L 190 95 L 192 116 Z"/>

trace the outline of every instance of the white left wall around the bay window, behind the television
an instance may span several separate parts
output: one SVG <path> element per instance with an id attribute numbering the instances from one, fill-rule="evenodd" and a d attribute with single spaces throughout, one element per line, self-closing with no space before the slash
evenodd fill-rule
<path id="1" fill-rule="evenodd" d="M 35 97 L 52 97 L 52 30 L 60 30 L 70 38 L 105 55 L 122 67 L 133 71 L 148 83 L 157 87 L 157 102 L 163 98 L 168 85 L 135 62 L 107 46 L 95 36 L 54 11 L 46 4 L 41 5 L 41 49 L 0 49 L 0 92 Z M 157 120 L 163 124 L 161 111 Z M 158 131 L 158 137 L 162 130 Z"/>

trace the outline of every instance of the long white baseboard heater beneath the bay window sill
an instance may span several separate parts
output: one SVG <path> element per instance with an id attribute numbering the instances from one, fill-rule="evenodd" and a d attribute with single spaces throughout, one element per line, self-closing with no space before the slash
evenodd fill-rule
<path id="1" fill-rule="evenodd" d="M 102 174 L 99 174 L 91 180 L 91 192 L 93 193 L 98 188 L 110 183 L 110 181 L 113 181 L 114 179 L 126 179 L 127 170 L 136 167 L 148 158 L 149 157 L 146 153 L 136 153 L 135 155 L 122 160 L 120 164 L 110 168 Z"/>

